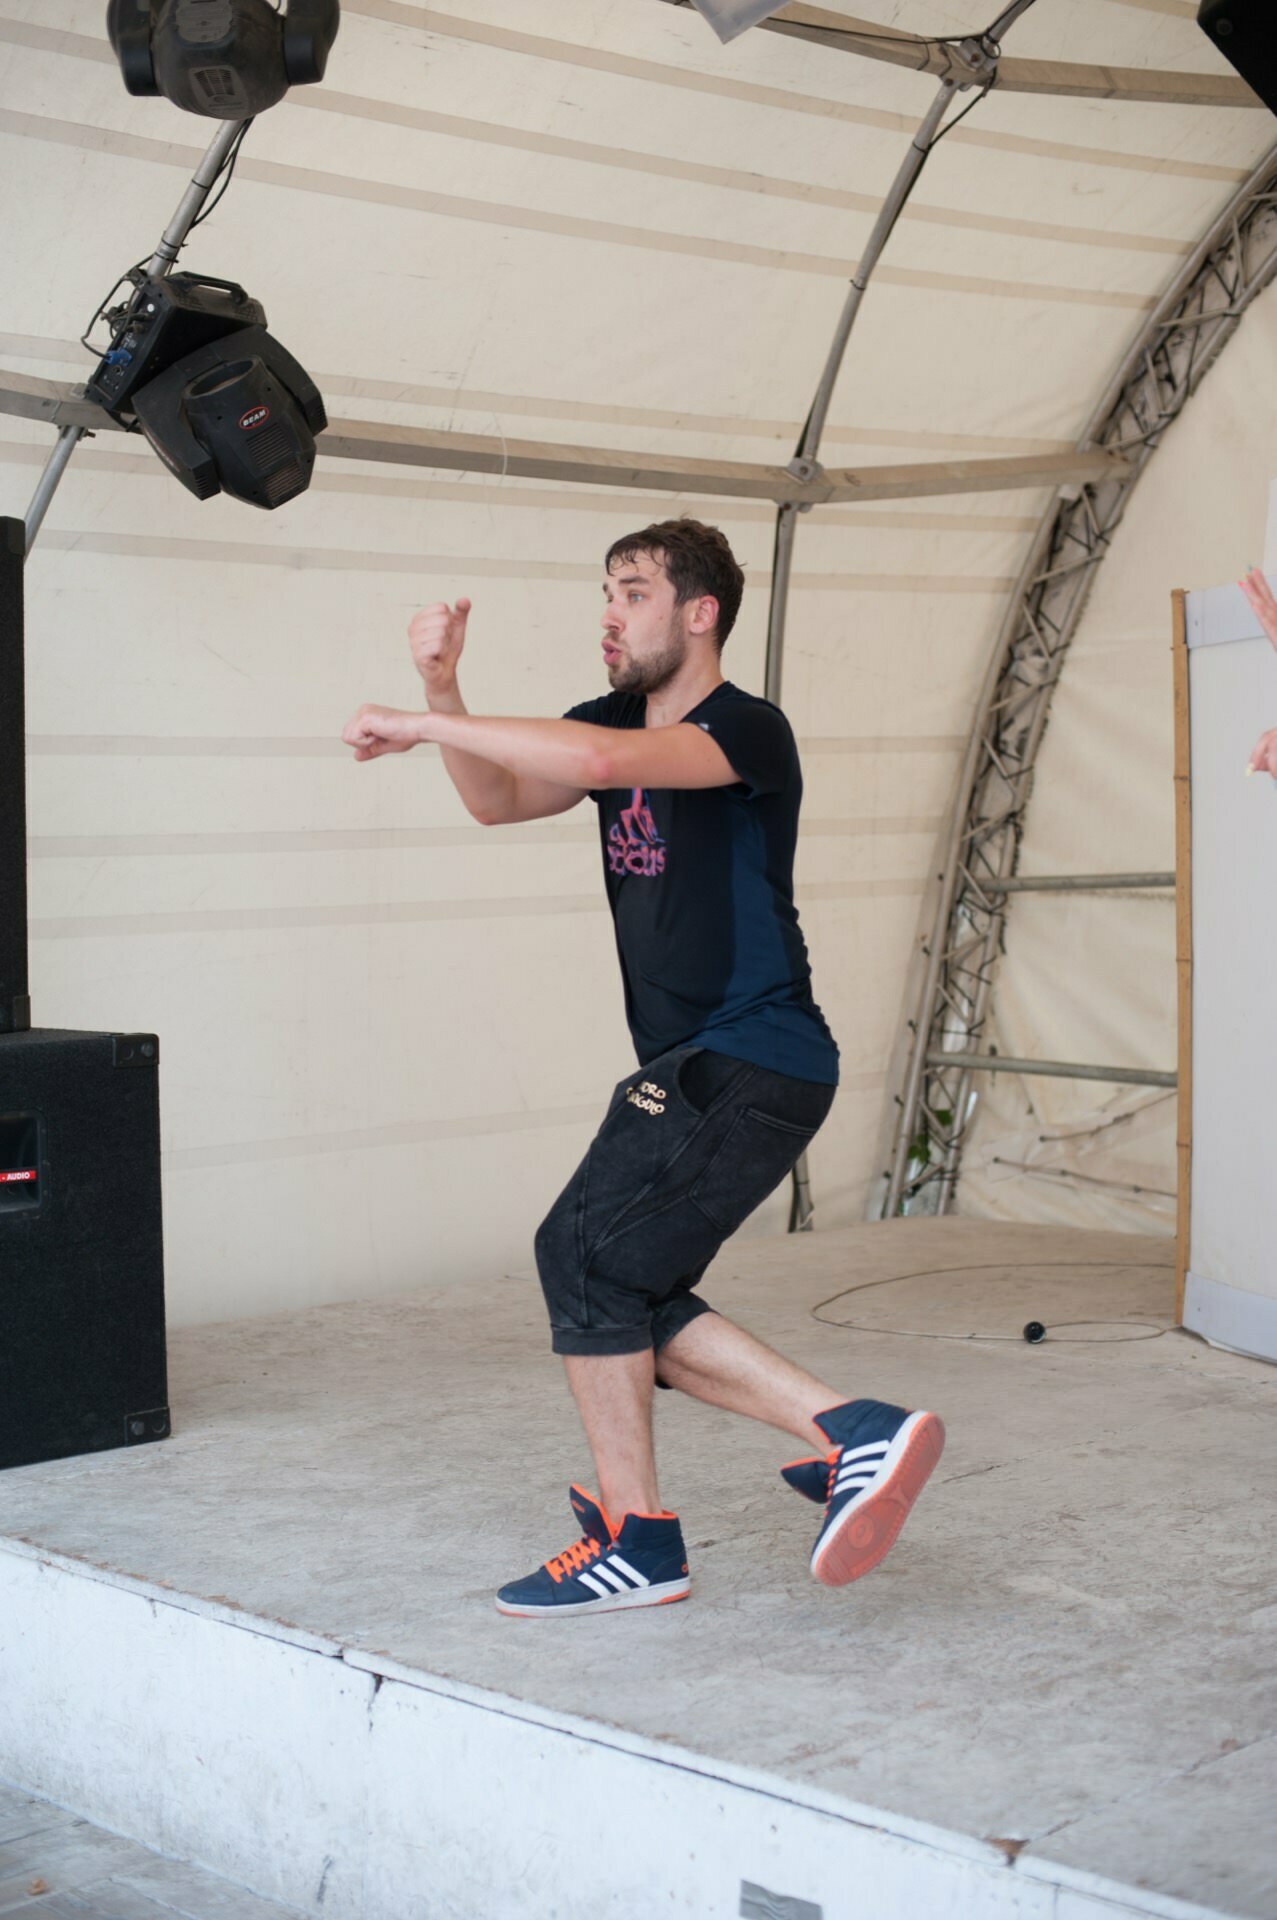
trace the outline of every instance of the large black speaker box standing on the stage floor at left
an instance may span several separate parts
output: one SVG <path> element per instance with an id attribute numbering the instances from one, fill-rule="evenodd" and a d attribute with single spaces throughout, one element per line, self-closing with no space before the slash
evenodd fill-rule
<path id="1" fill-rule="evenodd" d="M 0 1035 L 0 1467 L 169 1432 L 152 1033 Z"/>

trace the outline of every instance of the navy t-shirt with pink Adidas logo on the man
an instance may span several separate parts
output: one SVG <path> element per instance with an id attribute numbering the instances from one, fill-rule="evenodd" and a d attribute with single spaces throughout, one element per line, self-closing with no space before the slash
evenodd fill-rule
<path id="1" fill-rule="evenodd" d="M 565 720 L 641 728 L 647 701 L 605 693 Z M 697 1044 L 833 1087 L 837 1046 L 793 904 L 803 772 L 789 722 L 730 680 L 684 722 L 722 747 L 734 785 L 590 795 L 639 1064 Z"/>

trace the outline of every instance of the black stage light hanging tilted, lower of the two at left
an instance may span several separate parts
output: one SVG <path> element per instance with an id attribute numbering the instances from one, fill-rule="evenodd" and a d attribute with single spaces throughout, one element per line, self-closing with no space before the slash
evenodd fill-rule
<path id="1" fill-rule="evenodd" d="M 328 419 L 261 303 L 207 275 L 127 278 L 133 298 L 108 313 L 111 346 L 88 399 L 140 428 L 196 499 L 230 493 L 273 511 L 303 493 Z"/>

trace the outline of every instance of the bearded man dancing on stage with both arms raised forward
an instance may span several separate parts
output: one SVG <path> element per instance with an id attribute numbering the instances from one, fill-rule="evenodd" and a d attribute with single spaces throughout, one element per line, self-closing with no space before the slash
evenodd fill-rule
<path id="1" fill-rule="evenodd" d="M 599 1496 L 572 1488 L 580 1540 L 501 1588 L 503 1613 L 687 1597 L 682 1528 L 657 1488 L 653 1386 L 820 1450 L 782 1473 L 824 1507 L 810 1567 L 826 1586 L 881 1561 L 945 1444 L 933 1413 L 843 1400 L 695 1292 L 837 1087 L 793 906 L 797 747 L 778 707 L 720 672 L 743 584 L 726 538 L 697 520 L 616 540 L 603 576 L 611 693 L 561 720 L 467 712 L 457 662 L 470 603 L 428 607 L 409 628 L 428 710 L 361 707 L 342 733 L 357 760 L 434 741 L 484 826 L 561 814 L 586 795 L 599 808 L 641 1077 L 614 1089 L 536 1235 Z"/>

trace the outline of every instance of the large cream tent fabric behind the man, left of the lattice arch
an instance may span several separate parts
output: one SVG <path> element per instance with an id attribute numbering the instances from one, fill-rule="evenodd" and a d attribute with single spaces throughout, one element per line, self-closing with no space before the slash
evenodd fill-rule
<path id="1" fill-rule="evenodd" d="M 1214 60 L 1191 17 L 1064 13 L 1016 50 Z M 928 0 L 916 25 L 970 21 Z M 776 35 L 724 50 L 655 0 L 348 0 L 326 84 L 253 127 L 188 265 L 265 301 L 334 417 L 783 463 L 931 94 Z M 125 94 L 100 0 L 0 0 L 0 365 L 83 376 L 79 328 L 205 136 Z M 1070 445 L 1267 138 L 1241 109 L 983 102 L 893 236 L 828 463 Z M 0 422 L 6 511 L 48 444 Z M 459 591 L 474 710 L 601 689 L 599 557 L 684 505 L 747 564 L 726 670 L 760 689 L 766 507 L 325 459 L 267 516 L 119 436 L 77 453 L 29 568 L 33 995 L 42 1025 L 161 1035 L 175 1321 L 528 1269 L 632 1066 L 593 818 L 484 831 L 438 758 L 353 766 L 336 732 L 413 699 L 407 618 Z M 822 1225 L 878 1171 L 935 831 L 1043 505 L 801 524 L 799 904 L 845 1068 Z"/>

